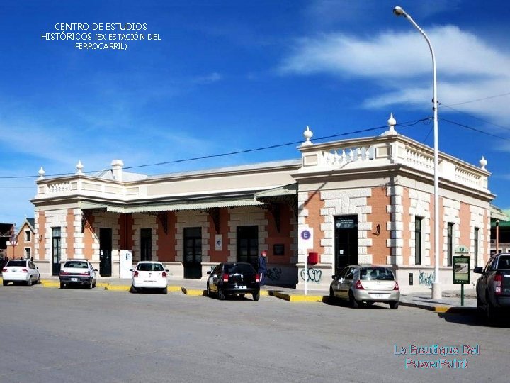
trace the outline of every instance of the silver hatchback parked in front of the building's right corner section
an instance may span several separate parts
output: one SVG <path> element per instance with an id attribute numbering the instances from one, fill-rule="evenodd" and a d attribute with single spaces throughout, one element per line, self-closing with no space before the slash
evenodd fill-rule
<path id="1" fill-rule="evenodd" d="M 400 290 L 390 267 L 350 265 L 334 275 L 329 286 L 329 300 L 337 299 L 348 300 L 353 309 L 361 303 L 371 305 L 374 302 L 385 302 L 390 304 L 390 309 L 397 309 Z"/>

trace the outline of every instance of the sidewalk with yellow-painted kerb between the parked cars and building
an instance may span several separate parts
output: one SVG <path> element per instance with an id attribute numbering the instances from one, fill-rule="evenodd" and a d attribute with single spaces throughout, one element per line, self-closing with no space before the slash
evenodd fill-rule
<path id="1" fill-rule="evenodd" d="M 183 292 L 183 294 L 193 296 L 205 295 L 205 283 L 201 279 L 168 280 L 169 292 Z M 58 277 L 45 277 L 41 279 L 41 284 L 43 287 L 60 287 Z M 97 287 L 111 291 L 128 292 L 131 287 L 131 279 L 99 278 Z M 329 300 L 329 294 L 324 290 L 308 289 L 307 294 L 305 294 L 303 289 L 278 286 L 261 287 L 261 295 L 275 296 L 292 302 L 327 302 Z M 445 291 L 441 299 L 432 299 L 430 290 L 401 292 L 400 306 L 416 307 L 436 313 L 475 313 L 476 292 L 475 289 L 465 290 L 464 306 L 460 306 L 460 292 Z"/>

